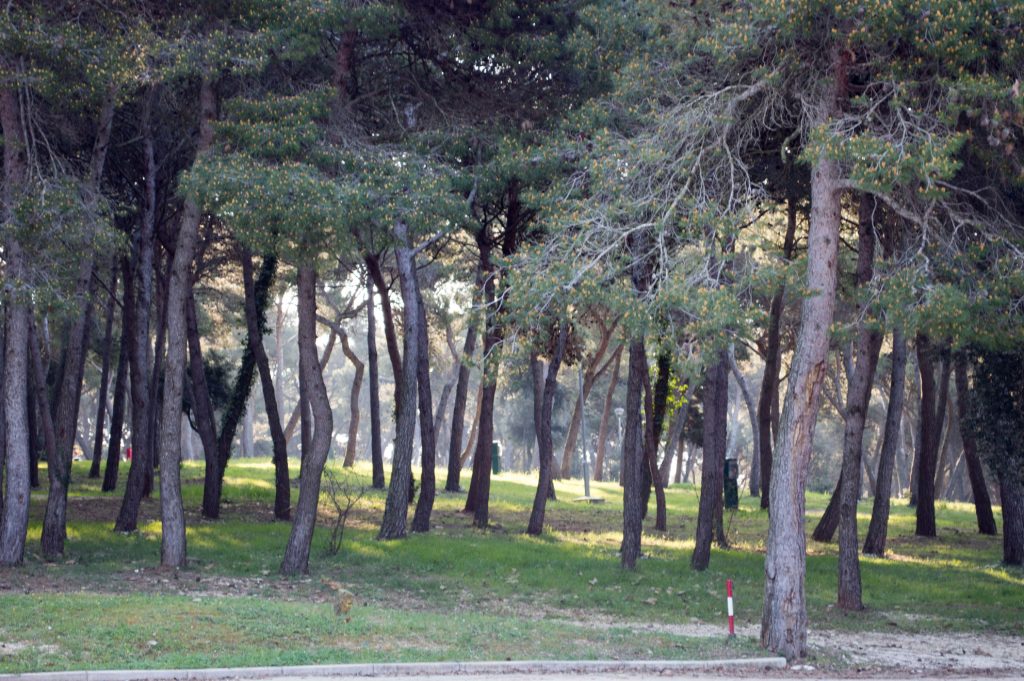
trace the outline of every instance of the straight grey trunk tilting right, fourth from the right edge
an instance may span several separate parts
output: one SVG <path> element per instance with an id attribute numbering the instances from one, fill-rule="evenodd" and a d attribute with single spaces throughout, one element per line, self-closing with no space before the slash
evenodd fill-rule
<path id="1" fill-rule="evenodd" d="M 906 338 L 903 329 L 893 329 L 892 373 L 889 378 L 889 406 L 886 409 L 886 433 L 879 456 L 879 477 L 871 506 L 871 522 L 864 538 L 864 553 L 882 556 L 886 552 L 889 530 L 889 498 L 892 495 L 893 469 L 902 431 L 903 393 L 906 384 Z"/>

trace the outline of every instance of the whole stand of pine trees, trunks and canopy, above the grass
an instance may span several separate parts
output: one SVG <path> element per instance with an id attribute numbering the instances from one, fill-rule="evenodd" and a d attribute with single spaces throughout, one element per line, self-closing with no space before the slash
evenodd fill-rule
<path id="1" fill-rule="evenodd" d="M 593 480 L 699 572 L 735 461 L 791 661 L 808 529 L 857 612 L 969 503 L 1019 596 L 1022 65 L 996 0 L 9 2 L 0 564 L 74 564 L 84 483 L 187 569 L 256 460 L 260 569 Z"/>

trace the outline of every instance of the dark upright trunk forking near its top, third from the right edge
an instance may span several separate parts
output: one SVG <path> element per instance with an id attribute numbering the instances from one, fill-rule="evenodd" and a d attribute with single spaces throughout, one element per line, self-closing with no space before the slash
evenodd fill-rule
<path id="1" fill-rule="evenodd" d="M 918 471 L 918 522 L 914 535 L 935 537 L 935 473 L 939 457 L 942 422 L 949 394 L 950 361 L 943 361 L 939 385 L 935 385 L 938 348 L 918 334 L 918 367 L 921 370 L 921 465 Z"/>

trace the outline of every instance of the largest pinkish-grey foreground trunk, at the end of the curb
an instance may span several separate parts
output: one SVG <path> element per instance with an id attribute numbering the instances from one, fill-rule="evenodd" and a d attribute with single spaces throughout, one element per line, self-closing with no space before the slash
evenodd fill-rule
<path id="1" fill-rule="evenodd" d="M 845 90 L 845 56 L 835 55 L 835 87 L 824 93 L 823 125 L 835 113 L 830 100 Z M 836 307 L 836 270 L 840 236 L 840 179 L 837 161 L 824 153 L 811 168 L 811 217 L 807 249 L 807 291 L 801 306 L 800 332 L 790 370 L 778 446 L 772 457 L 765 599 L 761 644 L 787 659 L 807 652 L 807 603 L 804 592 L 806 539 L 804 490 L 814 426 L 821 403 L 821 379 L 828 354 L 828 330 Z M 762 466 L 762 478 L 765 468 Z"/>

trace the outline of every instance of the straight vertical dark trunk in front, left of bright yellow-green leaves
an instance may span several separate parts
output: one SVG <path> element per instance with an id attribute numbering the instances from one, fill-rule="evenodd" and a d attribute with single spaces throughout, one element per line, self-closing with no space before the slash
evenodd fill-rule
<path id="1" fill-rule="evenodd" d="M 643 529 L 643 423 L 640 408 L 643 401 L 643 380 L 647 372 L 647 356 L 643 339 L 630 341 L 629 371 L 626 380 L 626 426 L 623 433 L 623 545 L 622 565 L 636 569 L 640 558 L 640 537 Z"/>

